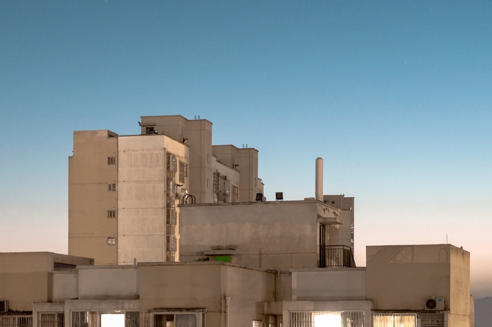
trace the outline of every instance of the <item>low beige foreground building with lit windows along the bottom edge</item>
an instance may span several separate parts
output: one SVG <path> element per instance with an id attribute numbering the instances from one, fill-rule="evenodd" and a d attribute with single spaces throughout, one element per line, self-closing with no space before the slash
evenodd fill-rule
<path id="1" fill-rule="evenodd" d="M 6 288 L 12 270 L 2 269 L 2 299 L 28 312 L 0 313 L 0 326 L 474 326 L 467 251 L 389 245 L 367 253 L 367 267 L 284 271 L 212 260 L 93 266 L 79 258 L 86 261 L 76 268 L 54 270 L 52 282 L 38 279 L 41 296 L 30 292 L 28 274 Z M 26 259 L 2 253 L 0 267 L 37 270 Z M 19 293 L 22 303 L 13 300 Z"/>

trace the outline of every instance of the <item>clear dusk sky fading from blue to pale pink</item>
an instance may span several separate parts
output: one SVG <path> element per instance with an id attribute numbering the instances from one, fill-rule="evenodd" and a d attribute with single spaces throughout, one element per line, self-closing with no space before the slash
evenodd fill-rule
<path id="1" fill-rule="evenodd" d="M 492 1 L 0 1 L 0 251 L 67 252 L 74 130 L 195 115 L 267 199 L 355 196 L 366 245 L 471 252 L 492 295 Z"/>

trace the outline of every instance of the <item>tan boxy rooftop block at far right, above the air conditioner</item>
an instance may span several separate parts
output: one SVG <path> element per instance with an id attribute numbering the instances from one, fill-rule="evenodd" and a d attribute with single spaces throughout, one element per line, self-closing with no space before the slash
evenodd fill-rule
<path id="1" fill-rule="evenodd" d="M 366 253 L 367 298 L 375 309 L 424 310 L 425 299 L 435 296 L 451 313 L 468 314 L 468 252 L 442 244 L 368 246 Z"/>

